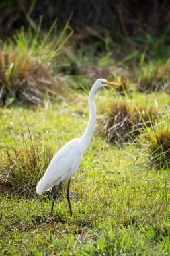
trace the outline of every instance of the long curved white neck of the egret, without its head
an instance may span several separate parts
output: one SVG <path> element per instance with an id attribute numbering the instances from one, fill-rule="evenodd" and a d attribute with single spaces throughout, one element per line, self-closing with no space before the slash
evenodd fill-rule
<path id="1" fill-rule="evenodd" d="M 89 147 L 89 144 L 91 142 L 91 137 L 93 135 L 94 127 L 95 127 L 95 115 L 96 115 L 96 107 L 95 107 L 95 102 L 94 102 L 94 96 L 95 92 L 97 91 L 97 88 L 92 87 L 91 91 L 89 93 L 89 121 L 87 123 L 87 127 L 85 129 L 85 132 L 80 138 L 80 145 L 81 145 L 81 150 L 82 153 L 87 150 Z"/>

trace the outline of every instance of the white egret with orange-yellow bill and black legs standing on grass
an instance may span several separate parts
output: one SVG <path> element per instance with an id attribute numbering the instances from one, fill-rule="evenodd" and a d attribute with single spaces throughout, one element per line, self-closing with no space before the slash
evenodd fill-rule
<path id="1" fill-rule="evenodd" d="M 108 82 L 105 79 L 97 79 L 93 84 L 91 91 L 89 92 L 89 122 L 85 132 L 80 138 L 75 138 L 69 141 L 64 147 L 62 147 L 52 158 L 48 168 L 42 179 L 38 182 L 36 187 L 36 192 L 38 195 L 42 195 L 45 191 L 49 191 L 55 185 L 57 187 L 54 193 L 51 215 L 54 208 L 54 201 L 58 194 L 58 190 L 62 184 L 62 181 L 68 180 L 67 185 L 67 201 L 69 203 L 70 214 L 72 215 L 71 203 L 69 198 L 69 189 L 71 177 L 77 172 L 79 165 L 81 163 L 83 152 L 87 150 L 91 142 L 91 137 L 93 135 L 93 130 L 95 126 L 95 115 L 96 107 L 94 102 L 94 96 L 97 89 L 104 86 L 120 86 L 120 84 L 115 82 Z"/>

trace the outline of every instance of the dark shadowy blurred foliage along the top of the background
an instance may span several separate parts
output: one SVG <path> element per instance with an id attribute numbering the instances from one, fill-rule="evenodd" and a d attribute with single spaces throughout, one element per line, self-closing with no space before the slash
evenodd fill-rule
<path id="1" fill-rule="evenodd" d="M 44 27 L 48 28 L 56 18 L 63 25 L 72 15 L 71 26 L 76 32 L 90 27 L 119 41 L 122 37 L 145 35 L 149 28 L 158 36 L 169 22 L 169 13 L 166 0 L 1 0 L 0 28 L 1 34 L 8 34 L 21 25 L 35 26 L 40 15 L 44 15 Z M 151 40 L 148 36 L 148 41 Z"/>

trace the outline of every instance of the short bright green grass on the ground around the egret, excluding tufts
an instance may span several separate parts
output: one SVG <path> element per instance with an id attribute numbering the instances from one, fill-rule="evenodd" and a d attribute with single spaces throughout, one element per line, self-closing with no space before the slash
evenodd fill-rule
<path id="1" fill-rule="evenodd" d="M 98 114 L 113 97 L 118 93 L 96 95 Z M 159 100 L 166 102 L 167 97 L 157 96 Z M 29 138 L 24 115 L 34 145 L 40 149 L 48 145 L 55 152 L 83 133 L 89 115 L 87 96 L 73 94 L 71 101 L 36 112 L 17 106 L 2 108 L 3 157 L 11 140 L 21 156 L 26 154 L 19 148 L 23 134 Z M 44 172 L 44 162 L 42 157 L 38 171 Z M 38 172 L 33 176 L 38 179 Z M 169 255 L 169 178 L 167 168 L 148 169 L 142 148 L 127 144 L 120 150 L 95 133 L 79 172 L 71 179 L 72 217 L 65 199 L 66 184 L 56 200 L 53 220 L 48 218 L 52 197 L 40 199 L 34 193 L 31 199 L 29 194 L 22 196 L 4 188 L 0 197 L 4 205 L 0 211 L 1 255 Z"/>

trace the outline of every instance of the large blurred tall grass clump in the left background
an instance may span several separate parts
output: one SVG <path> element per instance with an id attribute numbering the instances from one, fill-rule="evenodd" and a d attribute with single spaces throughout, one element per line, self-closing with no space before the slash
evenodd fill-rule
<path id="1" fill-rule="evenodd" d="M 62 53 L 73 30 L 69 22 L 62 32 L 51 38 L 54 24 L 48 33 L 40 34 L 42 18 L 36 34 L 17 32 L 13 40 L 0 46 L 0 104 L 13 100 L 26 104 L 38 104 L 48 96 L 56 96 L 65 90 L 67 79 L 53 71 L 57 56 Z"/>

